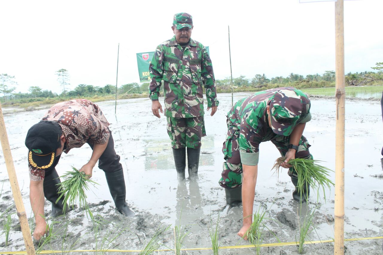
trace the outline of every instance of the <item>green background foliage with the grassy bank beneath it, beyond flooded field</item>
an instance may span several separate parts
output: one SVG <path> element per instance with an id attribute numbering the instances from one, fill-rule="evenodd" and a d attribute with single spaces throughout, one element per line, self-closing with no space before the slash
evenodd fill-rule
<path id="1" fill-rule="evenodd" d="M 376 66 L 372 67 L 372 69 L 376 70 L 376 72 L 364 71 L 356 73 L 350 72 L 346 74 L 345 86 L 383 86 L 383 62 L 376 63 Z M 5 78 L 10 77 L 7 74 L 1 75 L 2 77 L 5 75 Z M 14 84 L 15 82 L 13 79 L 15 78 L 11 78 L 12 84 Z M 114 100 L 116 95 L 115 85 L 110 84 L 107 84 L 104 87 L 97 87 L 89 84 L 79 84 L 73 90 L 63 90 L 60 95 L 52 93 L 50 90 L 41 90 L 41 88 L 38 86 L 29 87 L 30 93 L 5 93 L 5 90 L 8 86 L 7 79 L 0 79 L 0 82 L 3 83 L 0 84 L 0 93 L 2 93 L 2 95 L 0 95 L 0 100 L 3 106 L 20 106 L 26 108 L 30 106 L 54 104 L 60 101 L 66 101 L 75 98 L 87 98 L 97 102 Z M 305 89 L 309 88 L 334 88 L 335 72 L 327 70 L 323 74 L 310 74 L 306 75 L 306 77 L 300 74 L 291 73 L 287 77 L 277 76 L 272 78 L 267 78 L 265 74 L 256 74 L 253 78 L 250 79 L 247 79 L 241 75 L 239 77 L 233 78 L 232 82 L 234 92 L 256 92 L 277 87 L 295 87 L 305 91 Z M 216 85 L 218 93 L 229 93 L 232 90 L 230 77 L 216 80 Z M 126 99 L 146 97 L 148 96 L 148 87 L 149 83 L 124 84 L 117 89 L 117 98 Z M 15 88 L 13 88 L 13 90 L 14 89 Z M 315 90 L 310 91 L 315 92 Z"/>

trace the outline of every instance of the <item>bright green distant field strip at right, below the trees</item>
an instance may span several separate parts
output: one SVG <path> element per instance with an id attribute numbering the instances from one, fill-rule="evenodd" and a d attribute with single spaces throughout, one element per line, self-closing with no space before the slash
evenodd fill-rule
<path id="1" fill-rule="evenodd" d="M 304 93 L 321 96 L 334 96 L 335 88 L 302 88 Z M 381 98 L 383 86 L 345 87 L 346 96 L 360 98 Z"/>

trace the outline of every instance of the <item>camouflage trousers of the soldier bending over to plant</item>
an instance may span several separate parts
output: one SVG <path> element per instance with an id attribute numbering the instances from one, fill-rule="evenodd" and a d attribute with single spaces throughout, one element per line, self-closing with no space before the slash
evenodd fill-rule
<path id="1" fill-rule="evenodd" d="M 222 152 L 226 162 L 223 163 L 223 171 L 221 173 L 219 185 L 224 188 L 231 189 L 242 185 L 242 163 L 239 154 L 238 138 L 239 132 L 233 134 L 233 132 L 229 130 L 226 141 L 223 143 Z M 287 145 L 290 144 L 290 136 L 276 135 L 270 141 L 277 147 L 282 156 L 286 154 L 288 151 Z M 310 146 L 311 145 L 308 143 L 306 137 L 302 136 L 295 157 L 301 159 L 313 159 L 309 152 Z M 297 177 L 293 168 L 289 168 L 287 174 L 289 176 Z"/>

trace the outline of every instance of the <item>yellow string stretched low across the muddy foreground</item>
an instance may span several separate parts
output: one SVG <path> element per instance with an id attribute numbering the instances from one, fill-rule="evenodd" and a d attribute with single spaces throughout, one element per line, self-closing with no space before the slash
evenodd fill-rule
<path id="1" fill-rule="evenodd" d="M 351 238 L 351 239 L 344 239 L 345 241 L 360 241 L 360 240 L 371 240 L 371 239 L 383 239 L 383 236 L 377 236 L 377 237 L 362 237 L 362 238 Z M 306 241 L 304 244 L 319 244 L 319 243 L 331 243 L 334 242 L 334 240 L 319 240 L 319 241 Z M 288 245 L 298 245 L 299 242 L 285 242 L 285 243 L 273 243 L 273 244 L 261 244 L 259 247 L 276 247 L 276 246 L 288 246 Z M 249 245 L 234 245 L 234 246 L 222 246 L 219 247 L 219 249 L 243 249 L 243 248 L 254 248 L 255 246 L 252 244 Z M 212 248 L 185 248 L 180 250 L 212 250 Z M 142 250 L 117 250 L 117 249 L 110 249 L 110 250 L 69 250 L 69 251 L 62 251 L 62 250 L 43 250 L 39 252 L 39 254 L 49 254 L 49 253 L 62 253 L 62 252 L 141 252 Z M 174 249 L 164 249 L 164 250 L 154 250 L 154 252 L 171 252 L 174 251 Z M 0 254 L 27 254 L 26 251 L 20 251 L 20 252 L 0 252 Z"/>

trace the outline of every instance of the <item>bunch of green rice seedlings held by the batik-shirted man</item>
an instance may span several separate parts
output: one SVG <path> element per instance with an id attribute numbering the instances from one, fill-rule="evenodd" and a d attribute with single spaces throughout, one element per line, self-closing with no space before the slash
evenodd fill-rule
<path id="1" fill-rule="evenodd" d="M 85 173 L 80 172 L 75 167 L 72 168 L 73 171 L 66 172 L 63 176 L 61 176 L 61 178 L 65 178 L 65 180 L 58 184 L 59 198 L 57 198 L 56 203 L 62 198 L 62 196 L 64 196 L 63 211 L 65 211 L 67 203 L 69 206 L 72 206 L 72 209 L 74 209 L 75 201 L 78 200 L 79 207 L 85 208 L 92 218 L 92 212 L 88 210 L 87 195 L 85 191 L 89 190 L 88 183 L 93 186 L 98 183 L 88 179 Z"/>

